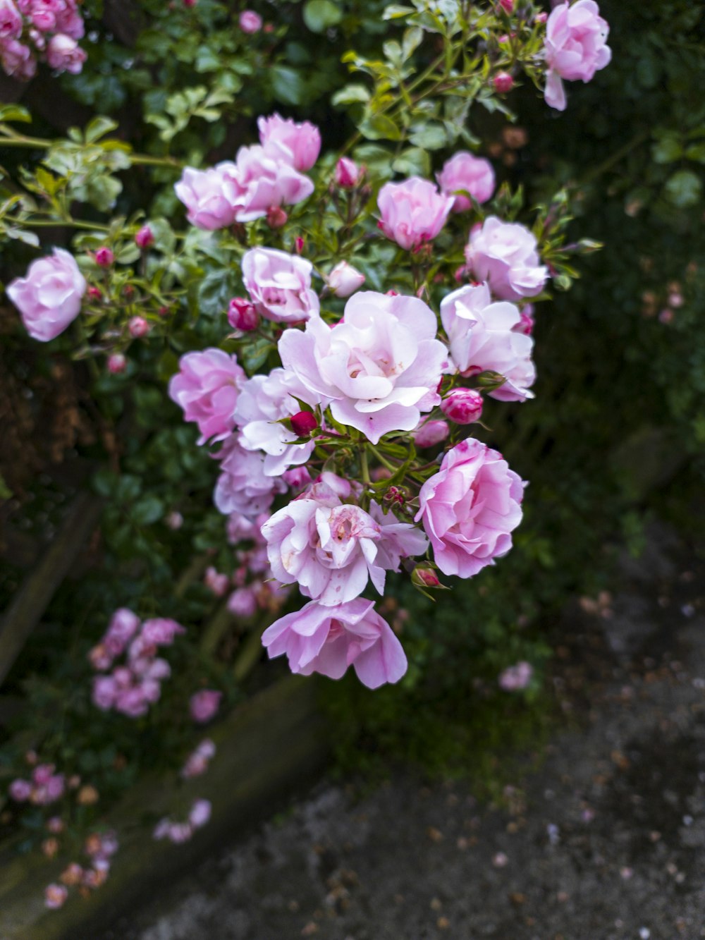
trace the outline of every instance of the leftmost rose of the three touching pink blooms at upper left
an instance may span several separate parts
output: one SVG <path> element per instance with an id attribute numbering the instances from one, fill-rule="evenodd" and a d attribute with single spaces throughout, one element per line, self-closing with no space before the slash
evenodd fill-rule
<path id="1" fill-rule="evenodd" d="M 174 192 L 188 210 L 186 218 L 196 228 L 212 231 L 232 225 L 242 206 L 243 190 L 233 163 L 207 170 L 187 166 Z"/>

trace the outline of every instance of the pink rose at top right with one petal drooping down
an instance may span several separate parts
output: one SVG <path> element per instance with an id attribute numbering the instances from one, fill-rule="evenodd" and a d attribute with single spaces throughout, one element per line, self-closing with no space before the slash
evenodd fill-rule
<path id="1" fill-rule="evenodd" d="M 562 79 L 589 82 L 609 63 L 612 50 L 606 45 L 608 34 L 609 26 L 594 0 L 577 0 L 572 6 L 562 3 L 553 8 L 546 23 L 544 47 L 547 104 L 565 111 Z"/>

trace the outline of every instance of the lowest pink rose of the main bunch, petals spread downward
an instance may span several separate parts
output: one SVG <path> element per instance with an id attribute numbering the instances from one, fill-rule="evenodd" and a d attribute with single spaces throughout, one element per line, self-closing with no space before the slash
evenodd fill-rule
<path id="1" fill-rule="evenodd" d="M 270 658 L 286 653 L 291 672 L 304 676 L 320 672 L 340 679 L 352 666 L 370 689 L 399 682 L 407 666 L 404 650 L 373 607 L 363 598 L 335 607 L 311 601 L 275 620 L 264 631 L 262 643 Z"/>

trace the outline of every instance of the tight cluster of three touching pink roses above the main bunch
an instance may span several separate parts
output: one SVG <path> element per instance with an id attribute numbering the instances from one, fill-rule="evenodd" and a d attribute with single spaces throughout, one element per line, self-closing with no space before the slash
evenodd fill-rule
<path id="1" fill-rule="evenodd" d="M 313 182 L 304 174 L 321 150 L 318 128 L 274 114 L 259 118 L 258 129 L 260 143 L 241 147 L 234 163 L 183 171 L 174 189 L 192 225 L 214 229 L 252 222 L 311 195 Z"/>

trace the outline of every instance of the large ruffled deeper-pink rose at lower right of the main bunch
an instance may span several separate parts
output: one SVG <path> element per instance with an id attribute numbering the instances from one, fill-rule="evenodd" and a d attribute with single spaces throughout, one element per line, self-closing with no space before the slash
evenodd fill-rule
<path id="1" fill-rule="evenodd" d="M 511 548 L 522 521 L 522 479 L 496 450 L 466 438 L 446 453 L 418 494 L 415 521 L 431 539 L 444 574 L 472 577 Z"/>

